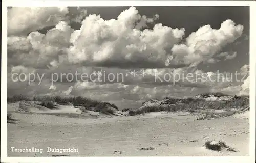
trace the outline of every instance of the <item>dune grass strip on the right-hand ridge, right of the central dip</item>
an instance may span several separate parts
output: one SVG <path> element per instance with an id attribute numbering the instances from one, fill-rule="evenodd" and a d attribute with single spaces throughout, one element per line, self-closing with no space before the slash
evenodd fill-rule
<path id="1" fill-rule="evenodd" d="M 224 94 L 216 94 L 217 96 L 222 96 Z M 167 100 L 166 100 L 167 99 Z M 244 96 L 235 96 L 230 101 L 205 101 L 204 99 L 176 99 L 176 98 L 165 98 L 163 102 L 160 101 L 148 101 L 144 102 L 141 107 L 136 110 L 129 111 L 130 116 L 137 114 L 145 114 L 148 112 L 194 112 L 196 110 L 220 110 L 220 109 L 230 109 L 230 108 L 245 108 L 249 106 L 249 98 Z M 202 117 L 207 117 L 202 116 Z M 199 117 L 199 119 L 201 119 Z"/>

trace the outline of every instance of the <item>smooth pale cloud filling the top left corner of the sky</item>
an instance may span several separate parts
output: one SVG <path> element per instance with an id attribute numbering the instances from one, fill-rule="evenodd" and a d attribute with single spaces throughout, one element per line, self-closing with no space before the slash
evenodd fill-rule
<path id="1" fill-rule="evenodd" d="M 12 7 L 8 9 L 8 35 L 26 35 L 55 26 L 68 14 L 67 7 Z"/>

